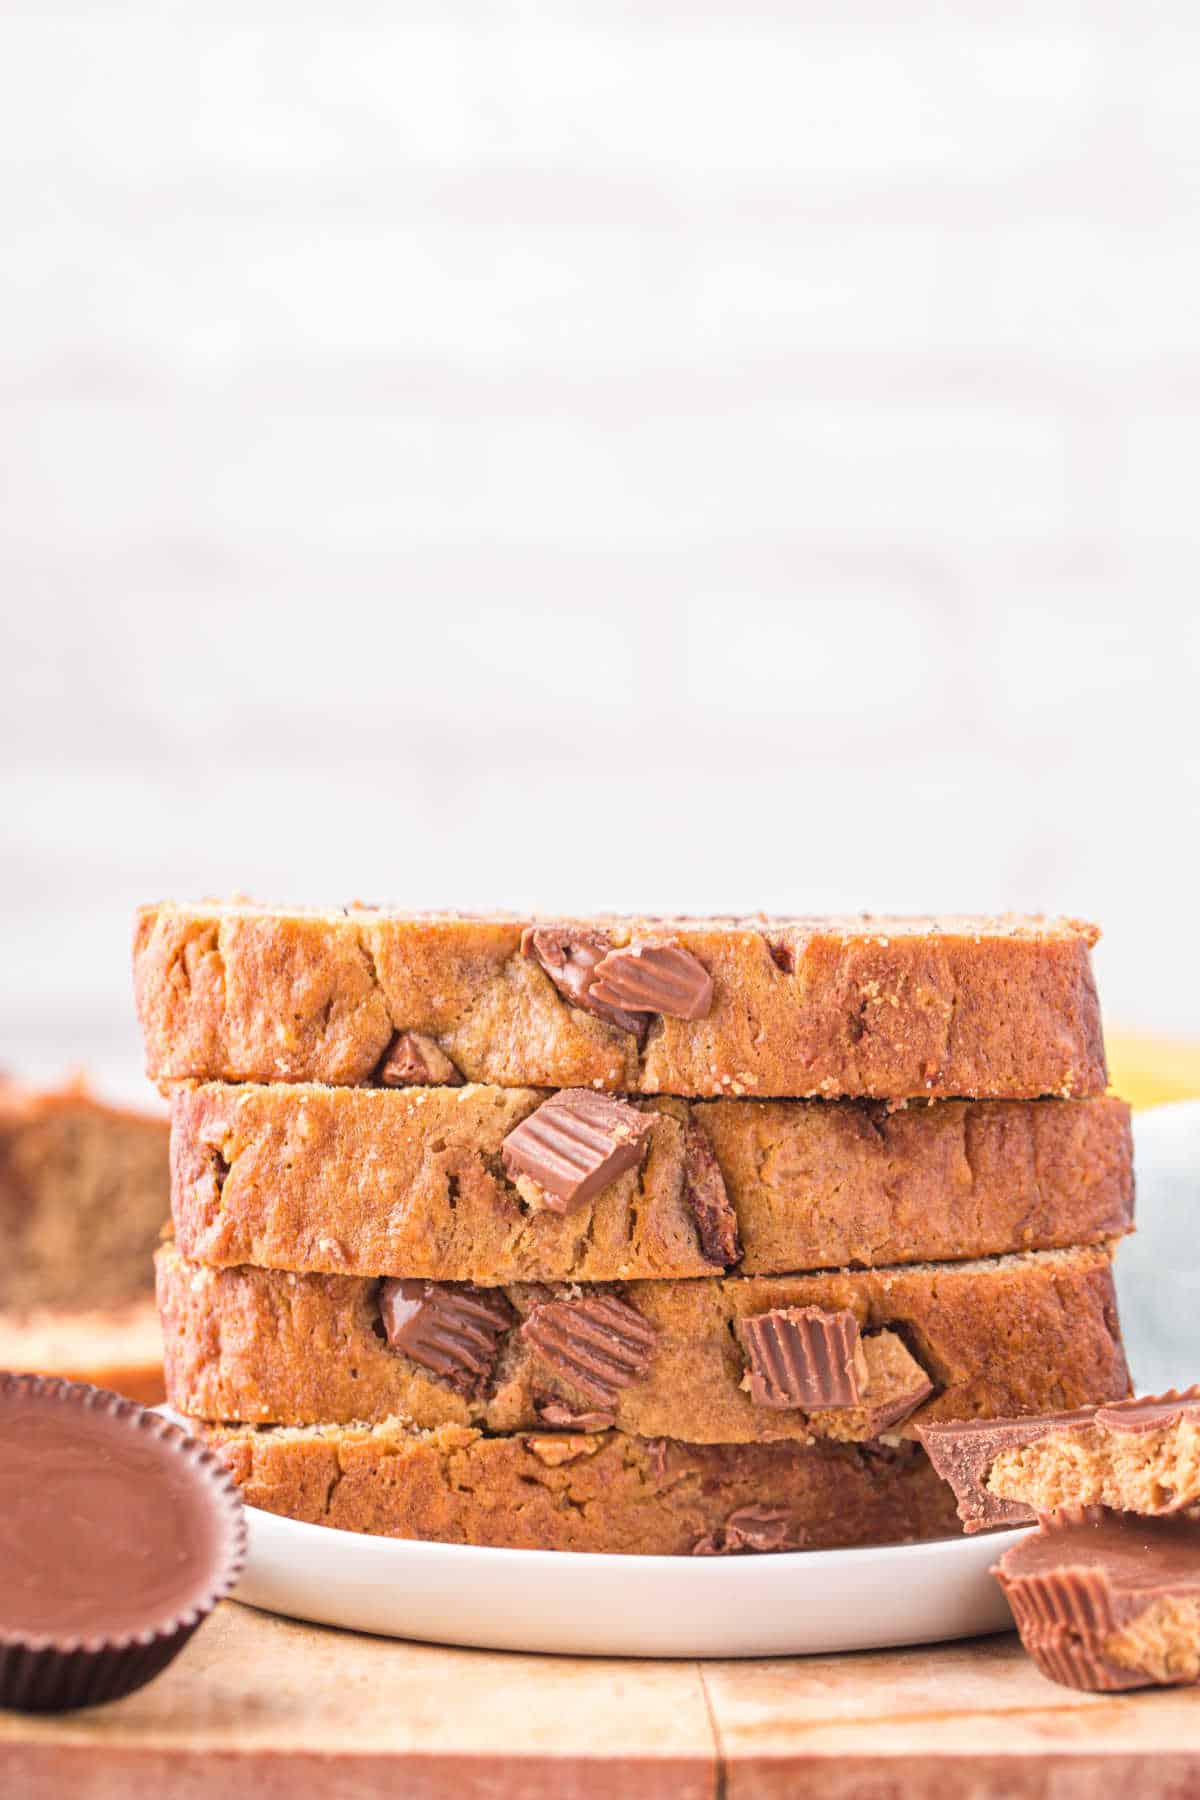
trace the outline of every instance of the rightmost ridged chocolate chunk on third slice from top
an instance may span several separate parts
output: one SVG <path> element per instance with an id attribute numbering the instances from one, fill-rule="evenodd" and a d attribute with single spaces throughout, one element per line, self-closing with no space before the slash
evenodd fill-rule
<path id="1" fill-rule="evenodd" d="M 743 1386 L 756 1406 L 806 1413 L 858 1406 L 865 1366 L 853 1312 L 775 1307 L 741 1319 L 738 1334 L 748 1364 Z"/>

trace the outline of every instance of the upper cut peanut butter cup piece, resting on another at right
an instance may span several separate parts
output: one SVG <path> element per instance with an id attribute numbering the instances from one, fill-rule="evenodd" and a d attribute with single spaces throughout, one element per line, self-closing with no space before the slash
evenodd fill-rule
<path id="1" fill-rule="evenodd" d="M 950 1481 L 959 1499 L 959 1517 L 968 1532 L 982 1532 L 995 1525 L 1025 1525 L 1034 1517 L 1036 1480 L 1025 1474 L 1029 1499 L 1004 1496 L 990 1487 L 991 1469 L 1007 1451 L 1022 1451 L 1045 1438 L 1074 1442 L 1063 1453 L 1063 1480 L 1074 1492 L 1054 1496 L 1047 1507 L 1067 1501 L 1090 1503 L 1108 1498 L 1103 1489 L 1103 1438 L 1139 1438 L 1151 1431 L 1166 1431 L 1193 1420 L 1200 1427 L 1200 1390 L 1186 1393 L 1146 1395 L 1133 1400 L 1112 1400 L 1106 1406 L 1085 1406 L 1070 1413 L 1042 1413 L 1029 1418 L 963 1418 L 919 1427 L 930 1462 Z M 1088 1472 L 1088 1465 L 1096 1465 Z M 1160 1514 L 1193 1505 L 1200 1494 L 1193 1485 L 1177 1487 L 1173 1478 L 1159 1481 L 1153 1467 L 1139 1480 L 1141 1471 L 1126 1460 L 1119 1478 L 1121 1507 L 1130 1512 Z M 1090 1489 L 1088 1490 L 1088 1483 Z M 1169 1490 L 1168 1490 L 1169 1489 Z"/>

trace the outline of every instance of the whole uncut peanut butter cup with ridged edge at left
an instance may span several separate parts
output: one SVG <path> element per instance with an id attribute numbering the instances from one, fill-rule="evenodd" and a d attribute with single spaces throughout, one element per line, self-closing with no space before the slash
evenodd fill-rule
<path id="1" fill-rule="evenodd" d="M 0 1706 L 131 1694 L 241 1573 L 228 1471 L 103 1388 L 0 1372 Z"/>

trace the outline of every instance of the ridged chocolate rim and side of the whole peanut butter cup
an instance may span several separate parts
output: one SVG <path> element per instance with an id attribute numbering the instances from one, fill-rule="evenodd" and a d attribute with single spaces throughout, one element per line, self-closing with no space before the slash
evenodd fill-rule
<path id="1" fill-rule="evenodd" d="M 68 1712 L 121 1699 L 160 1674 L 178 1656 L 191 1634 L 232 1593 L 246 1561 L 246 1519 L 241 1492 L 225 1462 L 182 1426 L 151 1408 L 126 1400 L 108 1388 L 0 1370 L 0 1397 L 27 1393 L 79 1411 L 104 1411 L 128 1418 L 131 1431 L 151 1431 L 201 1471 L 214 1505 L 225 1521 L 219 1573 L 201 1598 L 146 1631 L 113 1636 L 63 1638 L 11 1631 L 0 1625 L 0 1706 L 18 1712 Z"/>

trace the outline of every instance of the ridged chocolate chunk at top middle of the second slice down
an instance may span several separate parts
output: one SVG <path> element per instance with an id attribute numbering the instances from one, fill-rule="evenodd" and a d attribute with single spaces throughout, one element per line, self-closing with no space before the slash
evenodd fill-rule
<path id="1" fill-rule="evenodd" d="M 651 1123 L 628 1100 L 565 1087 L 507 1134 L 500 1159 L 509 1181 L 527 1175 L 543 1204 L 561 1213 L 640 1163 Z"/>

